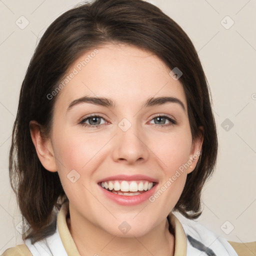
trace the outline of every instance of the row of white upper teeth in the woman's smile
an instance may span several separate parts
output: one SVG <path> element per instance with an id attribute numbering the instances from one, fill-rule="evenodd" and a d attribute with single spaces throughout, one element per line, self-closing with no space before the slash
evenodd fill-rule
<path id="1" fill-rule="evenodd" d="M 126 180 L 122 180 L 122 181 L 104 181 L 101 182 L 100 185 L 105 188 L 105 189 L 109 189 L 110 191 L 112 190 L 112 192 L 115 191 L 122 191 L 122 192 L 137 192 L 137 191 L 143 191 L 143 190 L 149 190 L 153 187 L 153 182 L 148 182 L 148 181 L 144 181 L 144 183 L 142 181 L 139 181 L 138 183 L 133 180 L 133 181 L 126 181 Z M 118 194 L 122 194 L 121 192 Z M 130 195 L 130 193 L 123 193 L 124 195 Z M 140 194 L 140 193 L 139 193 Z M 133 193 L 134 195 L 134 193 Z"/>

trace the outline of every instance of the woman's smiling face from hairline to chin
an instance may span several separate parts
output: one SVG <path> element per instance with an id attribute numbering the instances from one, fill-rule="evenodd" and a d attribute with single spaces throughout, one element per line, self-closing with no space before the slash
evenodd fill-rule
<path id="1" fill-rule="evenodd" d="M 113 235 L 125 235 L 123 221 L 127 235 L 142 235 L 176 204 L 199 143 L 182 85 L 158 57 L 121 44 L 92 52 L 73 63 L 57 95 L 56 170 L 73 212 Z"/>

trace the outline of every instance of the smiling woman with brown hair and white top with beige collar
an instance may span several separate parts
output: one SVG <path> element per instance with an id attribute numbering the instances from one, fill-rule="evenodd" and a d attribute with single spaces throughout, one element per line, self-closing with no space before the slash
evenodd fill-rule
<path id="1" fill-rule="evenodd" d="M 193 220 L 216 155 L 206 78 L 170 17 L 141 0 L 68 10 L 22 83 L 9 169 L 29 228 L 3 255 L 237 255 Z"/>

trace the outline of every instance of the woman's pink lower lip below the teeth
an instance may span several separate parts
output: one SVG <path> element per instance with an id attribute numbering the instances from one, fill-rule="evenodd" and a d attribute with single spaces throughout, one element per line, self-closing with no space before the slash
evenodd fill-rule
<path id="1" fill-rule="evenodd" d="M 150 190 L 147 190 L 141 194 L 137 195 L 120 195 L 112 193 L 104 188 L 102 188 L 100 185 L 98 185 L 101 191 L 104 193 L 104 195 L 113 200 L 114 202 L 120 204 L 120 205 L 136 205 L 139 203 L 144 202 L 147 200 L 155 191 L 157 184 L 155 184 Z"/>

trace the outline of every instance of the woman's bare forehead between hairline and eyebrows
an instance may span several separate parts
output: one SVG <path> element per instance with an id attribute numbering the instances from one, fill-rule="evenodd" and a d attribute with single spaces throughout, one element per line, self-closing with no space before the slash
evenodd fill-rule
<path id="1" fill-rule="evenodd" d="M 106 44 L 81 54 L 66 72 L 56 107 L 84 95 L 114 99 L 115 106 L 141 105 L 148 97 L 175 96 L 186 108 L 182 84 L 150 51 L 126 44 Z"/>

